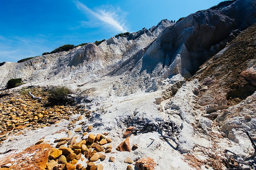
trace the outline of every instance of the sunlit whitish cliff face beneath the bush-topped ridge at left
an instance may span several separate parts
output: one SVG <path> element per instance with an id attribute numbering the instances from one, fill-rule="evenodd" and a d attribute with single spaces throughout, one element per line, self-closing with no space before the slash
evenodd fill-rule
<path id="1" fill-rule="evenodd" d="M 22 63 L 5 63 L 0 67 L 1 88 L 11 78 L 22 78 L 41 84 L 86 82 L 106 74 L 124 60 L 148 46 L 168 26 L 174 23 L 164 19 L 150 29 L 142 29 L 128 37 L 112 37 L 99 46 L 89 43 L 68 52 L 39 56 Z M 51 84 L 51 83 L 50 83 Z"/>

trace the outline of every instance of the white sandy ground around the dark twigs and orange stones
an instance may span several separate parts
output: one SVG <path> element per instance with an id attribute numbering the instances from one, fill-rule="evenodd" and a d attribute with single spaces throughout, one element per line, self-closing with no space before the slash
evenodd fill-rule
<path id="1" fill-rule="evenodd" d="M 77 136 L 77 142 L 82 140 L 84 130 L 86 130 L 89 125 L 93 125 L 93 129 L 90 133 L 96 135 L 99 133 L 109 132 L 108 136 L 113 139 L 111 145 L 113 145 L 112 152 L 114 153 L 107 153 L 106 159 L 104 161 L 95 162 L 96 165 L 101 163 L 105 169 L 110 170 L 126 169 L 128 164 L 124 163 L 125 158 L 130 157 L 135 161 L 140 158 L 150 157 L 153 158 L 157 163 L 156 169 L 187 170 L 194 168 L 188 165 L 188 162 L 184 160 L 184 154 L 181 154 L 180 151 L 191 152 L 196 155 L 197 158 L 202 160 L 207 159 L 207 154 L 209 152 L 221 152 L 224 149 L 229 149 L 233 152 L 247 155 L 249 155 L 249 152 L 253 152 L 251 150 L 252 146 L 250 145 L 250 141 L 248 141 L 248 139 L 244 139 L 244 143 L 237 144 L 228 140 L 227 138 L 224 138 L 219 139 L 219 141 L 216 143 L 213 142 L 209 136 L 196 131 L 191 126 L 192 123 L 195 123 L 197 117 L 197 110 L 193 107 L 195 99 L 193 90 L 195 87 L 198 87 L 198 82 L 196 80 L 183 84 L 174 97 L 162 101 L 160 105 L 156 105 L 154 102 L 156 102 L 155 98 L 161 97 L 162 92 L 165 90 L 164 88 L 151 93 L 138 92 L 129 96 L 119 97 L 114 95 L 115 93 L 113 90 L 113 84 L 118 83 L 118 80 L 118 77 L 101 77 L 96 81 L 91 81 L 85 86 L 81 87 L 81 89 L 88 89 L 91 87 L 96 88 L 94 95 L 91 96 L 93 99 L 91 110 L 97 111 L 92 114 L 92 121 L 88 121 L 85 119 L 85 117 L 83 120 L 78 121 L 75 124 L 74 129 L 81 126 L 79 125 L 81 121 L 85 121 L 86 125 L 82 127 L 81 133 L 73 132 L 71 137 Z M 167 81 L 167 83 L 168 82 L 173 83 L 172 80 Z M 68 84 L 68 86 L 73 89 L 77 88 L 77 84 Z M 95 102 L 100 104 L 96 106 L 94 104 Z M 81 105 L 86 106 L 86 103 L 81 103 Z M 163 110 L 157 110 L 158 106 L 161 106 Z M 136 116 L 134 116 L 134 113 L 136 113 Z M 70 121 L 78 118 L 79 116 L 80 115 L 78 114 L 71 116 Z M 181 125 L 183 128 L 180 130 L 180 134 L 176 138 L 179 147 L 177 147 L 172 140 L 168 140 L 169 143 L 167 143 L 161 139 L 160 134 L 157 132 L 149 132 L 139 134 L 137 136 L 130 136 L 131 147 L 133 144 L 138 144 L 137 150 L 132 152 L 116 151 L 116 146 L 124 141 L 122 136 L 126 127 L 124 126 L 123 121 L 128 116 L 143 117 L 148 121 L 155 123 L 162 120 L 172 120 Z M 201 119 L 203 120 L 203 118 Z M 68 130 L 68 124 L 70 121 L 63 120 L 58 123 L 57 127 L 44 127 L 33 131 L 28 131 L 25 129 L 23 130 L 24 133 L 22 135 L 11 136 L 10 138 L 14 138 L 14 140 L 5 140 L 1 145 L 0 152 L 5 152 L 9 149 L 14 150 L 5 155 L 0 154 L 0 159 L 4 158 L 6 155 L 12 154 L 13 152 L 21 152 L 25 148 L 35 144 L 41 138 L 44 138 L 44 141 L 49 140 L 48 143 L 51 144 L 55 139 L 67 137 L 68 135 L 65 132 L 57 134 L 53 133 L 62 129 Z M 203 122 L 202 126 L 211 126 L 211 124 L 207 124 L 206 121 L 206 124 Z M 221 135 L 221 132 L 216 127 L 212 127 L 212 131 Z M 87 138 L 87 136 L 88 135 L 86 135 L 84 138 Z M 54 143 L 53 146 L 55 145 L 56 143 Z M 213 148 L 213 145 L 217 145 L 217 148 Z M 246 149 L 249 152 L 245 153 L 244 150 Z M 116 158 L 114 163 L 108 161 L 110 156 Z M 86 166 L 85 162 L 86 159 L 83 162 L 81 160 L 78 161 L 78 163 L 81 163 L 83 166 Z M 206 168 L 202 166 L 201 169 Z"/>

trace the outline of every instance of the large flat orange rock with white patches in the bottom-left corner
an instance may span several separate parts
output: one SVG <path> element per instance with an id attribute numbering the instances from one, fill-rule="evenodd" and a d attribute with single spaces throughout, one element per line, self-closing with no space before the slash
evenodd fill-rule
<path id="1" fill-rule="evenodd" d="M 48 163 L 48 155 L 51 151 L 51 145 L 39 144 L 26 148 L 24 151 L 13 156 L 0 160 L 0 167 L 11 163 L 9 170 L 15 169 L 44 169 Z"/>

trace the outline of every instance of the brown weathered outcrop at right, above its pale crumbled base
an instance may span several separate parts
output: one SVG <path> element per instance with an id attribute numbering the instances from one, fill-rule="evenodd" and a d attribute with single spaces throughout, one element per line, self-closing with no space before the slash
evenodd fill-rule
<path id="1" fill-rule="evenodd" d="M 234 105 L 255 92 L 256 87 L 252 85 L 253 65 L 256 60 L 253 46 L 256 40 L 253 38 L 256 36 L 255 30 L 254 24 L 239 34 L 195 74 L 194 77 L 201 81 L 214 77 L 214 81 L 207 85 L 208 90 L 202 92 L 198 98 L 198 104 L 204 106 L 208 113 Z"/>

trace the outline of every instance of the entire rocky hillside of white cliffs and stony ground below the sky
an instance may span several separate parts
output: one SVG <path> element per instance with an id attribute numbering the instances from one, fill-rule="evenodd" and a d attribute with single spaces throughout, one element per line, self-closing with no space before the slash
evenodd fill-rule
<path id="1" fill-rule="evenodd" d="M 51 153 L 44 157 L 49 159 L 44 166 L 61 163 L 60 169 L 255 169 L 255 12 L 255 0 L 237 0 L 178 23 L 162 20 L 149 30 L 112 37 L 99 46 L 90 43 L 5 63 L 0 66 L 1 87 L 9 78 L 22 77 L 32 79 L 33 85 L 78 85 L 95 91 L 79 103 L 80 109 L 68 113 L 66 107 L 43 108 L 51 115 L 42 115 L 42 123 L 33 119 L 43 107 L 38 101 L 27 99 L 36 106 L 24 106 L 23 112 L 19 101 L 28 96 L 15 96 L 15 103 L 8 105 L 14 97 L 1 95 L 0 134 L 6 140 L 0 165 L 16 164 L 13 157 L 5 158 L 22 155 L 44 138 L 62 158 L 71 156 L 60 154 L 60 144 L 80 154 L 70 164 L 52 159 Z M 17 95 L 27 85 L 4 93 Z M 22 113 L 10 113 L 12 109 Z M 28 118 L 27 110 L 32 112 Z M 53 118 L 57 123 L 51 125 Z M 17 131 L 25 120 L 24 129 Z M 112 139 L 111 152 L 100 142 L 107 137 Z M 82 145 L 86 149 L 78 153 Z M 91 160 L 95 154 L 98 159 Z"/>

